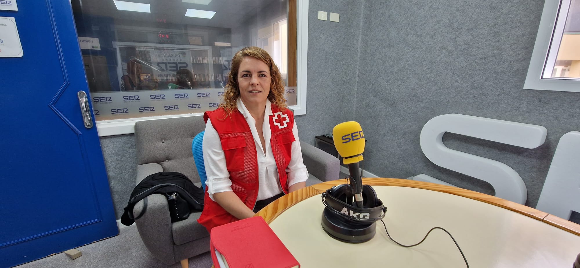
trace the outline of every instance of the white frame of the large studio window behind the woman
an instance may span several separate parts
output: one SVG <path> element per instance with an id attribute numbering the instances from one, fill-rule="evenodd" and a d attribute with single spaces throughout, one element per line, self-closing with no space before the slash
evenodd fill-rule
<path id="1" fill-rule="evenodd" d="M 307 78 L 307 62 L 308 62 L 308 4 L 309 0 L 288 0 L 288 47 L 291 47 L 291 43 L 295 41 L 296 44 L 296 65 L 291 66 L 291 56 L 289 53 L 288 62 L 288 73 L 291 72 L 292 67 L 296 69 L 296 105 L 289 106 L 294 111 L 294 115 L 304 115 L 306 114 L 306 78 Z M 291 21 L 292 17 L 295 16 L 296 26 L 295 37 L 291 36 Z M 290 50 L 290 49 L 289 49 Z M 288 74 L 290 81 L 290 74 Z M 290 84 L 290 82 L 289 82 Z M 293 85 L 288 85 L 293 86 Z M 91 104 L 92 105 L 92 104 Z M 135 133 L 135 123 L 139 121 L 164 119 L 164 118 L 176 118 L 176 117 L 191 117 L 200 116 L 202 113 L 194 114 L 179 114 L 179 115 L 158 115 L 153 117 L 139 117 L 139 118 L 127 118 L 127 119 L 113 119 L 113 120 L 103 120 L 96 121 L 97 132 L 99 137 L 103 136 L 114 136 L 123 134 Z"/>

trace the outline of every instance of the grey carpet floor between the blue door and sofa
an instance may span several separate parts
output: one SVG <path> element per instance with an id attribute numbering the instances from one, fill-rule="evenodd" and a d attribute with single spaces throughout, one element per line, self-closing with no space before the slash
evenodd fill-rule
<path id="1" fill-rule="evenodd" d="M 137 226 L 135 225 L 121 228 L 118 236 L 84 245 L 77 249 L 82 252 L 82 256 L 74 260 L 68 258 L 64 253 L 58 253 L 16 267 L 181 268 L 179 262 L 173 265 L 165 265 L 151 255 L 143 244 L 141 237 L 139 237 L 139 232 L 137 232 Z M 209 268 L 211 266 L 212 258 L 209 252 L 189 259 L 189 267 L 191 268 Z"/>

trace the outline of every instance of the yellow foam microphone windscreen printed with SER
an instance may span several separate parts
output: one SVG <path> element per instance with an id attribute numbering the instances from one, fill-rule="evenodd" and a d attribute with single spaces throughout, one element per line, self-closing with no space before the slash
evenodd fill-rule
<path id="1" fill-rule="evenodd" d="M 362 160 L 365 140 L 361 125 L 349 121 L 336 125 L 332 129 L 332 139 L 336 151 L 343 157 L 344 164 L 356 163 Z"/>

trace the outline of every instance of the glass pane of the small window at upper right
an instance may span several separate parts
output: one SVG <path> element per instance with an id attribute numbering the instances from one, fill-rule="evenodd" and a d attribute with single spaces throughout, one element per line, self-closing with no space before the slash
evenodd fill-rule
<path id="1" fill-rule="evenodd" d="M 571 0 L 565 15 L 559 19 L 565 19 L 564 32 L 551 78 L 580 78 L 580 0 Z"/>

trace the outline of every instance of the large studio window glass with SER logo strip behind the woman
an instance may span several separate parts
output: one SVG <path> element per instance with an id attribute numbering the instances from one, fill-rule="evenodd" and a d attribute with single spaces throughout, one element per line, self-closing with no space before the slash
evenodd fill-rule
<path id="1" fill-rule="evenodd" d="M 288 77 L 287 1 L 72 3 L 97 120 L 214 110 L 245 46 L 267 50 Z M 296 88 L 286 91 L 295 105 Z"/>

